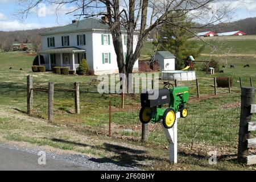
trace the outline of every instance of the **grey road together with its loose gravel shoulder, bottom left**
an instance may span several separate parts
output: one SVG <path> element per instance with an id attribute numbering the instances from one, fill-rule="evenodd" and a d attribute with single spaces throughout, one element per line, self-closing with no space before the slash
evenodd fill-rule
<path id="1" fill-rule="evenodd" d="M 46 154 L 46 165 L 38 164 L 39 151 Z M 97 163 L 94 158 L 77 154 L 56 154 L 40 148 L 27 148 L 0 143 L 0 170 L 97 170 L 97 171 L 133 171 L 131 166 L 119 166 L 113 163 Z"/>

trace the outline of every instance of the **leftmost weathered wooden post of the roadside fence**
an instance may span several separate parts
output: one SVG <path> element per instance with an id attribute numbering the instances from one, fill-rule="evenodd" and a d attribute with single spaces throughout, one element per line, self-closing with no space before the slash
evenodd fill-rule
<path id="1" fill-rule="evenodd" d="M 33 77 L 27 76 L 27 114 L 31 115 L 33 110 Z"/>

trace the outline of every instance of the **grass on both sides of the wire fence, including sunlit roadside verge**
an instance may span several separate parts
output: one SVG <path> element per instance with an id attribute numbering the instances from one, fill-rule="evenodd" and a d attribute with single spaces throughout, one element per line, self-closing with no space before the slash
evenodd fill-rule
<path id="1" fill-rule="evenodd" d="M 211 40 L 212 41 L 212 40 Z M 232 40 L 223 41 L 221 44 L 214 42 L 216 46 L 225 46 L 221 49 L 229 50 L 233 47 L 232 51 L 236 56 L 224 56 L 216 55 L 211 53 L 210 47 L 206 47 L 203 55 L 198 57 L 197 60 L 209 60 L 214 58 L 220 61 L 220 65 L 230 65 L 234 64 L 235 68 L 231 69 L 226 67 L 224 69 L 224 74 L 216 73 L 215 75 L 208 75 L 205 72 L 201 72 L 201 63 L 196 64 L 197 68 L 197 78 L 199 78 L 200 83 L 200 94 L 202 99 L 197 100 L 196 97 L 196 84 L 195 81 L 185 81 L 178 82 L 178 85 L 189 86 L 189 93 L 192 97 L 191 102 L 189 102 L 189 109 L 191 109 L 191 117 L 180 121 L 179 124 L 179 145 L 180 147 L 187 148 L 179 153 L 181 159 L 181 164 L 178 167 L 159 167 L 167 165 L 167 158 L 163 158 L 163 163 L 154 162 L 152 168 L 148 169 L 250 169 L 244 168 L 232 160 L 223 160 L 220 162 L 220 166 L 211 167 L 205 164 L 208 160 L 203 158 L 197 161 L 197 157 L 193 157 L 193 153 L 200 153 L 200 151 L 191 148 L 191 144 L 196 145 L 196 143 L 211 143 L 214 144 L 221 141 L 221 146 L 230 145 L 236 146 L 237 141 L 237 129 L 239 122 L 239 102 L 240 102 L 240 82 L 239 78 L 242 78 L 243 85 L 250 85 L 249 77 L 253 78 L 253 84 L 256 84 L 256 57 L 253 56 L 254 50 L 256 50 L 255 40 Z M 254 44 L 255 43 L 255 44 Z M 195 46 L 202 44 L 197 42 Z M 144 44 L 141 55 L 147 57 L 152 52 L 152 43 L 146 42 Z M 229 53 L 230 54 L 230 53 Z M 108 104 L 109 100 L 112 100 L 113 106 L 113 134 L 121 135 L 125 137 L 125 142 L 130 143 L 130 140 L 126 140 L 126 137 L 135 136 L 139 139 L 141 134 L 140 123 L 138 121 L 138 109 L 139 109 L 139 96 L 135 95 L 126 99 L 126 110 L 119 109 L 121 104 L 121 97 L 118 94 L 106 94 L 102 96 L 101 94 L 88 93 L 86 90 L 96 91 L 97 85 L 90 85 L 90 80 L 95 78 L 95 76 L 63 76 L 56 75 L 54 73 L 32 73 L 31 64 L 34 56 L 28 56 L 24 52 L 7 52 L 0 53 L 0 105 L 6 110 L 15 110 L 20 113 L 26 113 L 26 76 L 31 74 L 33 76 L 34 84 L 39 86 L 47 86 L 47 82 L 55 82 L 56 87 L 72 88 L 73 82 L 81 82 L 81 115 L 70 114 L 74 111 L 73 105 L 73 94 L 64 92 L 55 92 L 55 113 L 56 121 L 53 122 L 53 126 L 58 126 L 57 128 L 50 126 L 41 126 L 38 123 L 34 123 L 35 126 L 30 125 L 30 122 L 26 122 L 24 119 L 18 119 L 19 123 L 8 119 L 3 114 L 0 116 L 0 137 L 7 140 L 15 140 L 19 142 L 28 142 L 34 144 L 40 144 L 45 146 L 52 146 L 56 148 L 61 148 L 64 150 L 75 150 L 82 153 L 90 153 L 96 156 L 106 156 L 109 154 L 107 150 L 98 151 L 97 148 L 84 149 L 82 147 L 76 146 L 76 144 L 63 144 L 58 141 L 52 141 L 49 138 L 54 137 L 54 133 L 60 139 L 68 140 L 80 140 L 71 137 L 68 133 L 74 134 L 77 130 L 82 130 L 83 132 L 87 130 L 97 131 L 102 129 L 100 133 L 106 134 L 108 131 Z M 243 65 L 250 64 L 250 68 L 243 68 Z M 9 70 L 10 67 L 14 67 L 13 70 Z M 19 69 L 22 68 L 22 71 Z M 232 87 L 232 93 L 228 94 L 228 89 L 218 88 L 218 96 L 214 97 L 213 88 L 213 77 L 218 76 L 232 76 L 234 78 L 234 85 Z M 163 86 L 163 81 L 159 81 L 159 87 Z M 45 93 L 35 93 L 35 108 L 44 109 L 47 112 L 47 94 Z M 231 106 L 230 106 L 231 105 Z M 223 107 L 226 106 L 226 107 Z M 225 109 L 226 108 L 226 109 Z M 39 116 L 39 115 L 38 115 Z M 41 115 L 42 118 L 46 118 L 46 115 Z M 7 118 L 7 119 L 6 119 Z M 225 119 L 228 118 L 228 119 Z M 32 118 L 31 118 L 32 119 Z M 10 122 L 9 122 L 10 120 Z M 22 122 L 21 122 L 22 121 Z M 71 130 L 65 127 L 71 127 Z M 198 126 L 200 126 L 198 128 Z M 39 131 L 37 136 L 35 131 Z M 50 128 L 49 128 L 50 127 Z M 60 127 L 60 128 L 59 128 Z M 167 145 L 166 139 L 163 137 L 162 126 L 160 125 L 150 125 L 150 142 L 144 144 L 144 147 L 150 148 L 150 150 L 155 151 L 155 148 L 162 148 L 162 151 L 156 152 L 154 156 L 167 156 L 167 150 L 164 148 Z M 129 133 L 124 129 L 133 129 L 133 133 Z M 74 130 L 75 131 L 74 131 Z M 59 131 L 61 130 L 61 131 Z M 48 139 L 44 139 L 46 133 Z M 93 133 L 90 133 L 93 135 Z M 195 137 L 195 134 L 197 135 Z M 88 135 L 88 133 L 86 133 Z M 34 137 L 37 136 L 37 137 Z M 97 138 L 98 135 L 96 135 Z M 103 135 L 104 136 L 104 135 Z M 94 136 L 95 137 L 95 136 Z M 121 138 L 123 138 L 121 137 Z M 214 138 L 214 139 L 213 139 Z M 101 136 L 101 139 L 105 137 Z M 111 140 L 111 139 L 110 139 Z M 115 141 L 122 142 L 115 138 Z M 82 140 L 81 142 L 85 142 Z M 151 144 L 152 143 L 152 144 Z M 131 142 L 131 144 L 134 144 Z M 138 144 L 138 143 L 135 143 Z M 139 144 L 141 145 L 141 144 Z M 184 145 L 184 146 L 182 146 Z M 99 146 L 98 148 L 102 148 Z M 199 146 L 203 150 L 204 147 Z M 208 148 L 209 149 L 209 148 Z M 207 150 L 208 150 L 207 149 Z M 224 149 L 225 151 L 225 149 Z M 236 151 L 236 148 L 233 148 Z M 232 152 L 233 152 L 232 151 Z M 193 167 L 194 166 L 194 167 Z M 146 167 L 147 168 L 147 167 Z"/>

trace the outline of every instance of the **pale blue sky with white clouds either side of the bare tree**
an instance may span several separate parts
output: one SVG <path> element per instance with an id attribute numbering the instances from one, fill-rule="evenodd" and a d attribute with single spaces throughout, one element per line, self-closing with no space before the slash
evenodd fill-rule
<path id="1" fill-rule="evenodd" d="M 232 2 L 232 7 L 236 9 L 231 20 L 244 19 L 249 17 L 256 17 L 256 0 L 218 0 L 216 3 Z M 73 10 L 72 6 L 63 6 L 55 14 L 54 5 L 46 5 L 46 15 L 38 15 L 38 11 L 34 10 L 24 20 L 20 15 L 16 15 L 20 6 L 15 0 L 0 0 L 0 31 L 14 31 L 14 30 L 27 30 L 42 27 L 63 26 L 71 23 L 75 19 L 73 15 L 65 15 L 69 10 Z"/>

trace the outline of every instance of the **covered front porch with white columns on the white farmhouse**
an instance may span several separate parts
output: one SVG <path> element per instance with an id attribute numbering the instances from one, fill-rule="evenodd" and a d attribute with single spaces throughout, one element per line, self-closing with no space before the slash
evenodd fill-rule
<path id="1" fill-rule="evenodd" d="M 76 72 L 80 61 L 86 59 L 85 50 L 76 47 L 53 48 L 37 53 L 39 65 L 44 65 L 47 70 L 52 70 L 53 67 L 68 67 Z M 41 64 L 40 55 L 44 55 L 45 64 Z"/>

